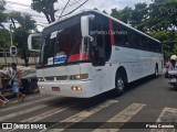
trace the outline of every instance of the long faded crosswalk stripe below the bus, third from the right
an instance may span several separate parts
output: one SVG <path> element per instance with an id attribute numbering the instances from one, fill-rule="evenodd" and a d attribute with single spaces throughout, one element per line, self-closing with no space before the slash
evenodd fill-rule
<path id="1" fill-rule="evenodd" d="M 100 110 L 102 110 L 113 103 L 116 103 L 116 102 L 118 102 L 118 101 L 117 100 L 107 100 L 106 102 L 103 102 L 96 107 L 94 106 L 94 107 L 86 109 L 86 110 L 83 110 L 83 111 L 81 111 L 70 118 L 66 118 L 66 119 L 62 120 L 61 122 L 69 122 L 64 125 L 64 128 L 69 128 L 71 125 L 80 122 L 81 120 L 94 114 L 95 112 L 97 112 L 97 111 L 100 111 Z M 50 128 L 58 128 L 59 125 L 60 125 L 60 122 L 51 125 Z M 61 132 L 63 130 L 65 130 L 65 129 L 52 129 L 52 130 L 50 130 L 50 132 Z M 42 130 L 40 132 L 44 132 L 44 131 L 48 131 L 48 130 Z"/>

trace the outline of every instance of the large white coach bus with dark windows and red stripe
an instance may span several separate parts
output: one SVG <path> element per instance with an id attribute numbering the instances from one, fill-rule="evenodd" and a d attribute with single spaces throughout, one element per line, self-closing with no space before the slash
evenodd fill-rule
<path id="1" fill-rule="evenodd" d="M 41 50 L 32 40 L 42 38 Z M 126 84 L 158 76 L 164 57 L 159 41 L 98 11 L 84 11 L 31 34 L 39 51 L 38 85 L 42 95 L 90 98 Z"/>

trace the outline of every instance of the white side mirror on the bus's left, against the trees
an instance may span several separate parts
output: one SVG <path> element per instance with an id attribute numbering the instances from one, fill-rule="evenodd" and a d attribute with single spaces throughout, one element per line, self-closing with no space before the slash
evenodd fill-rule
<path id="1" fill-rule="evenodd" d="M 37 33 L 37 34 L 30 34 L 29 37 L 28 37 L 28 48 L 29 51 L 32 51 L 32 52 L 41 52 L 40 50 L 34 50 L 33 48 L 33 41 L 34 41 L 34 37 L 40 37 L 41 38 L 42 34 L 41 33 Z M 35 41 L 37 42 L 37 41 Z"/>

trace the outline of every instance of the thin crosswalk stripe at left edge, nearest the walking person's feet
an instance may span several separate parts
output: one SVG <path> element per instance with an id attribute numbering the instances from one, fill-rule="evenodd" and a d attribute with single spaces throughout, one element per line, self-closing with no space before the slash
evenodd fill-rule
<path id="1" fill-rule="evenodd" d="M 38 103 L 38 102 L 42 102 L 42 101 L 46 101 L 46 100 L 52 100 L 54 98 L 56 98 L 56 97 L 46 97 L 46 98 L 42 98 L 42 99 L 39 99 L 39 100 L 38 99 L 37 100 L 30 100 L 30 102 L 25 102 L 25 100 L 24 100 L 24 103 L 17 105 L 17 106 L 9 107 L 9 108 L 4 108 L 4 109 L 0 110 L 0 112 L 8 111 L 8 110 L 13 110 L 13 109 L 17 109 L 17 108 L 23 108 L 23 107 L 27 107 L 27 106 L 30 106 L 30 105 L 33 105 L 33 103 Z"/>

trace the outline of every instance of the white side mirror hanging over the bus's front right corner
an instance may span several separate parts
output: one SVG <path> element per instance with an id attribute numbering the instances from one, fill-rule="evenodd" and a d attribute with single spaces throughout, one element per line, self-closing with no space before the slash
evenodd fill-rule
<path id="1" fill-rule="evenodd" d="M 90 36 L 90 20 L 94 20 L 95 15 L 90 14 L 90 15 L 84 15 L 81 18 L 81 32 L 83 37 L 90 37 L 91 42 L 93 41 L 93 37 Z"/>

